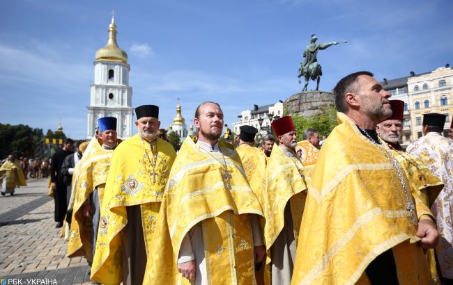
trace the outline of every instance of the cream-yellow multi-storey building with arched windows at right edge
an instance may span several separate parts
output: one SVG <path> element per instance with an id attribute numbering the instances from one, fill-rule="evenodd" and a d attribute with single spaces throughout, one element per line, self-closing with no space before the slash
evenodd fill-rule
<path id="1" fill-rule="evenodd" d="M 408 78 L 408 105 L 410 110 L 411 138 L 422 136 L 423 114 L 447 115 L 443 136 L 448 135 L 453 115 L 453 69 L 450 65 L 433 72 Z"/>

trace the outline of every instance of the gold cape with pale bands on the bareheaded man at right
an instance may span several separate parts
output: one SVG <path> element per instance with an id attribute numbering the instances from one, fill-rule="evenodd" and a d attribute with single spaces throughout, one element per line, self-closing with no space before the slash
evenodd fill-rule
<path id="1" fill-rule="evenodd" d="M 291 284 L 369 284 L 364 270 L 390 248 L 400 284 L 430 284 L 397 171 L 351 119 L 337 117 L 309 185 Z"/>

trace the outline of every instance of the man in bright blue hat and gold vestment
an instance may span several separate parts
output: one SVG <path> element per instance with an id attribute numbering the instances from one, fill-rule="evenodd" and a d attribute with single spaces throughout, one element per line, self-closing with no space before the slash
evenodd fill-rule
<path id="1" fill-rule="evenodd" d="M 68 241 L 68 257 L 84 256 L 91 265 L 98 236 L 100 205 L 110 168 L 110 158 L 117 145 L 116 117 L 98 119 L 99 138 L 93 138 L 75 181 L 73 219 Z"/>

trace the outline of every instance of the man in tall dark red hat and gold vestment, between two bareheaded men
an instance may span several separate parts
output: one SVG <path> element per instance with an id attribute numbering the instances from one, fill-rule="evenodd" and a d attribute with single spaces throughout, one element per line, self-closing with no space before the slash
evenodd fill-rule
<path id="1" fill-rule="evenodd" d="M 259 195 L 266 219 L 266 282 L 270 273 L 272 284 L 290 284 L 309 177 L 295 155 L 297 136 L 292 118 L 281 117 L 271 126 L 279 145 L 272 148 L 266 185 Z"/>

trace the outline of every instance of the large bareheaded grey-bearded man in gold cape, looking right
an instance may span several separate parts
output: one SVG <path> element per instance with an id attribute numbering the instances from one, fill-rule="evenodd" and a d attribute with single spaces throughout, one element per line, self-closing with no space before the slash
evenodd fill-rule
<path id="1" fill-rule="evenodd" d="M 316 161 L 292 284 L 430 284 L 433 215 L 375 130 L 390 93 L 356 72 L 334 94 L 339 125 Z"/>

